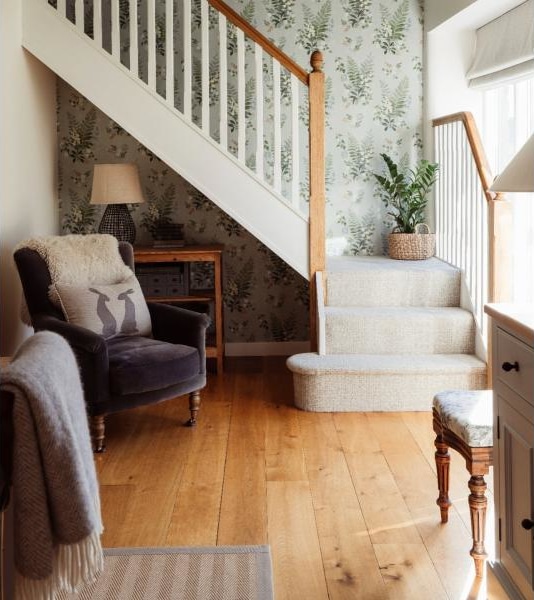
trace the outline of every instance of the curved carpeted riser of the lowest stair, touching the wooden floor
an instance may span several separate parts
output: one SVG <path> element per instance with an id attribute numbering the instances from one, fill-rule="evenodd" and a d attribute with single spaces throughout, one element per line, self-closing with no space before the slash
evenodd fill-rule
<path id="1" fill-rule="evenodd" d="M 293 373 L 295 404 L 312 412 L 430 411 L 432 398 L 447 389 L 485 389 L 484 368 L 432 375 Z"/>

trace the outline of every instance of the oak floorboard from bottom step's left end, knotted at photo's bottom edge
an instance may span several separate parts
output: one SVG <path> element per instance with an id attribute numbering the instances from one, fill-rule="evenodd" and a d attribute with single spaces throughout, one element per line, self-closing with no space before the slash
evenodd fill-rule
<path id="1" fill-rule="evenodd" d="M 333 419 L 298 416 L 329 598 L 384 600 L 384 580 Z"/>

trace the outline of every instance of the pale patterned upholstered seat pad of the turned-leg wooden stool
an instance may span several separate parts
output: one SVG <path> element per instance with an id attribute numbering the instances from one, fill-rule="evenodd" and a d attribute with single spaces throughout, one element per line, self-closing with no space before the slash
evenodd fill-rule
<path id="1" fill-rule="evenodd" d="M 451 390 L 434 396 L 433 406 L 443 428 L 471 448 L 493 446 L 493 393 L 491 390 Z"/>

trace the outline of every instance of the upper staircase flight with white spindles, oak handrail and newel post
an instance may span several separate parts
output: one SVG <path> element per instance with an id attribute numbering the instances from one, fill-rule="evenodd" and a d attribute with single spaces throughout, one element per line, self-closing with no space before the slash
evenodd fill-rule
<path id="1" fill-rule="evenodd" d="M 23 46 L 311 279 L 324 264 L 322 57 L 307 73 L 222 0 L 196 6 L 23 0 Z"/>

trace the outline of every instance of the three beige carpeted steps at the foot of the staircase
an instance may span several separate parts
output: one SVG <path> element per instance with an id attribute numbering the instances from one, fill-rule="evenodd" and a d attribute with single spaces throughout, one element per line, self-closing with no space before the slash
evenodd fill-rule
<path id="1" fill-rule="evenodd" d="M 319 353 L 287 361 L 299 408 L 430 410 L 436 392 L 486 387 L 459 269 L 438 259 L 343 257 L 329 259 L 324 278 Z"/>

